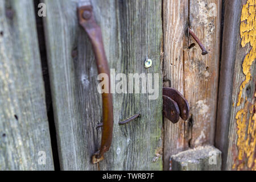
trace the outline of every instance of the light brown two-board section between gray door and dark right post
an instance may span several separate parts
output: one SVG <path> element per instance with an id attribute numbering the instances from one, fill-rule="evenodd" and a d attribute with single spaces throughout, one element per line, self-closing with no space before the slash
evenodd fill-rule
<path id="1" fill-rule="evenodd" d="M 189 147 L 214 143 L 220 57 L 222 1 L 164 1 L 165 86 L 179 90 L 189 101 L 191 117 L 176 125 L 164 121 L 164 169 L 169 158 Z M 187 28 L 207 48 L 188 47 L 195 43 L 187 37 Z"/>

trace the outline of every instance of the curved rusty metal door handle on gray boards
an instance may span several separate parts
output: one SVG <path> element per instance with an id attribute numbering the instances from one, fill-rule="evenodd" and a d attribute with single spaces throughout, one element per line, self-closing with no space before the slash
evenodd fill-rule
<path id="1" fill-rule="evenodd" d="M 109 93 L 102 93 L 103 129 L 101 137 L 101 148 L 100 151 L 92 155 L 92 163 L 95 164 L 104 159 L 103 155 L 106 151 L 109 150 L 112 143 L 113 103 L 112 94 L 110 93 L 110 71 L 102 41 L 101 28 L 97 25 L 93 17 L 92 6 L 90 5 L 90 3 L 87 5 L 79 5 L 78 16 L 80 25 L 87 32 L 90 42 L 92 43 L 93 52 L 97 63 L 98 74 L 106 73 L 109 77 Z"/>

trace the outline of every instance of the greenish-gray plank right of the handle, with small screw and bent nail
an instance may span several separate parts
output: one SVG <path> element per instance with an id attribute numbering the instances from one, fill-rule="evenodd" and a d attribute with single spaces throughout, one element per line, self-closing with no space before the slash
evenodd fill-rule
<path id="1" fill-rule="evenodd" d="M 100 3 L 101 1 L 98 1 Z M 162 1 L 115 1 L 118 19 L 119 60 L 112 60 L 117 73 L 157 74 L 156 100 L 152 94 L 114 94 L 113 169 L 162 170 Z M 152 67 L 144 68 L 146 59 Z M 114 65 L 116 64 L 116 65 Z M 149 84 L 149 82 L 147 82 Z M 139 85 L 134 85 L 135 89 Z M 129 86 L 128 86 L 129 87 Z M 128 88 L 130 89 L 130 88 Z M 140 113 L 141 118 L 125 126 L 118 121 Z M 121 151 L 121 152 L 119 152 Z"/>

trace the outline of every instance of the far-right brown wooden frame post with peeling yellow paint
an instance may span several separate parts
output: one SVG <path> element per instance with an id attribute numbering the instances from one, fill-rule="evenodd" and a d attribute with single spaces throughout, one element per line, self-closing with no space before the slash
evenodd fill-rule
<path id="1" fill-rule="evenodd" d="M 247 2 L 252 3 L 247 0 L 234 2 L 225 1 L 224 41 L 221 59 L 221 72 L 223 73 L 220 77 L 222 84 L 220 83 L 219 105 L 224 104 L 230 112 L 224 113 L 224 111 L 218 109 L 216 130 L 216 146 L 223 152 L 222 169 L 224 170 L 256 169 L 255 58 L 251 60 L 251 65 L 246 65 L 247 55 L 250 55 L 250 52 L 255 50 L 255 44 L 253 44 L 253 42 L 246 42 L 243 38 L 245 32 L 243 30 L 244 23 L 247 24 L 252 20 L 249 24 L 255 28 L 255 19 L 243 20 L 249 10 L 245 6 Z M 243 7 L 245 8 L 243 9 Z M 255 15 L 255 4 L 251 5 L 251 8 L 254 9 L 254 11 L 250 11 L 250 14 Z M 243 14 L 242 10 L 244 11 Z M 251 17 L 255 18 L 255 16 Z M 229 31 L 230 28 L 232 28 L 233 33 Z M 254 29 L 251 28 L 250 30 Z M 250 33 L 250 30 L 246 32 Z M 246 36 L 246 38 L 247 37 L 250 36 Z M 255 42 L 255 35 L 251 36 L 251 38 L 251 40 Z M 227 40 L 232 41 L 228 42 Z M 230 65 L 232 65 L 232 67 L 230 67 Z M 227 67 L 230 67 L 228 71 L 224 71 Z M 246 75 L 249 75 L 249 72 L 246 71 L 249 71 L 251 76 L 246 77 Z M 232 80 L 229 90 L 225 88 L 226 85 L 224 84 L 224 82 L 228 80 Z M 241 85 L 243 85 L 245 81 L 246 84 L 244 84 L 245 86 L 241 91 Z M 221 94 L 223 94 L 223 96 Z M 222 101 L 221 98 L 225 97 L 227 94 L 230 94 L 231 98 L 229 100 L 227 99 L 228 101 Z"/>

